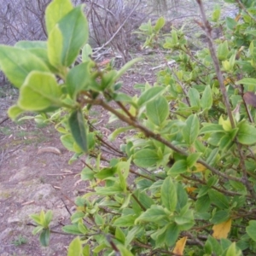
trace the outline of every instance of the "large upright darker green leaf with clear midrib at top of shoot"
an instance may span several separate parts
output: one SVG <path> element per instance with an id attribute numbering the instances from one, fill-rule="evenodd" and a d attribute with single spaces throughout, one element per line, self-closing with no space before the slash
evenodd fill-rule
<path id="1" fill-rule="evenodd" d="M 63 36 L 61 63 L 69 67 L 88 39 L 88 22 L 83 7 L 79 6 L 70 11 L 60 20 L 59 26 Z"/>

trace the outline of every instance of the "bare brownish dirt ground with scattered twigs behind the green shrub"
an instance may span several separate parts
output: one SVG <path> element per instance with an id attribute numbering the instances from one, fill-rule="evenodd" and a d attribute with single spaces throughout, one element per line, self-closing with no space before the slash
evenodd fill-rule
<path id="1" fill-rule="evenodd" d="M 146 81 L 153 84 L 155 76 L 149 68 L 154 66 L 156 62 L 150 56 L 137 63 L 122 77 L 122 90 L 134 95 L 137 93 L 133 89 L 134 84 Z M 81 195 L 86 187 L 86 183 L 78 183 L 83 163 L 77 161 L 68 165 L 72 153 L 61 144 L 54 125 L 40 128 L 33 120 L 18 123 L 4 120 L 18 91 L 6 84 L 1 87 L 0 256 L 66 255 L 73 236 L 51 234 L 49 247 L 41 247 L 38 236 L 32 235 L 29 215 L 41 210 L 53 210 L 52 228 L 61 232 L 61 226 L 69 224 L 69 212 L 74 209 L 75 197 Z M 108 114 L 97 109 L 92 111 L 101 119 L 101 127 L 113 131 L 119 125 L 108 124 Z"/>

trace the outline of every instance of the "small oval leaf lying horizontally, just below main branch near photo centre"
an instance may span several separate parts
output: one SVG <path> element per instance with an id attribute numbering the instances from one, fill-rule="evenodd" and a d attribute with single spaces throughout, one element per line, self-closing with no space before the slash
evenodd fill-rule
<path id="1" fill-rule="evenodd" d="M 156 165 L 160 160 L 158 154 L 152 149 L 142 149 L 134 154 L 134 163 L 139 167 L 150 167 Z"/>

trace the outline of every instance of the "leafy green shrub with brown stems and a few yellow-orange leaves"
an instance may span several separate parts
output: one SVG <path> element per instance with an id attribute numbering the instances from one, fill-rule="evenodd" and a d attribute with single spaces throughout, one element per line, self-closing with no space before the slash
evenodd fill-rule
<path id="1" fill-rule="evenodd" d="M 138 60 L 101 71 L 90 59 L 83 7 L 70 0 L 46 9 L 46 42 L 0 46 L 1 69 L 20 89 L 9 116 L 30 111 L 55 120 L 71 161 L 84 161 L 90 190 L 62 228 L 76 236 L 68 255 L 256 253 L 256 3 L 225 2 L 238 5 L 236 18 L 220 20 L 216 7 L 207 20 L 197 0 L 208 47 L 196 52 L 182 30 L 160 33 L 163 18 L 141 26 L 145 46 L 159 47 L 166 68 L 154 85 L 137 86 L 140 96 L 121 92 L 118 82 Z M 222 32 L 215 41 L 212 27 Z M 125 134 L 120 148 L 96 131 L 88 115 L 95 105 L 126 124 L 109 137 Z M 44 246 L 51 218 L 32 215 Z"/>

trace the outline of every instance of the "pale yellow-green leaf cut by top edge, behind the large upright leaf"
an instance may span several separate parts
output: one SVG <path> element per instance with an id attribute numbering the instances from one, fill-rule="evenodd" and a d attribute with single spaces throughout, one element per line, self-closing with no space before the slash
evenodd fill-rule
<path id="1" fill-rule="evenodd" d="M 45 24 L 49 34 L 54 28 L 56 23 L 61 20 L 67 13 L 73 9 L 73 5 L 70 0 L 54 0 L 49 3 L 45 10 Z"/>

